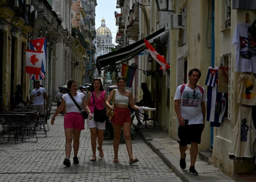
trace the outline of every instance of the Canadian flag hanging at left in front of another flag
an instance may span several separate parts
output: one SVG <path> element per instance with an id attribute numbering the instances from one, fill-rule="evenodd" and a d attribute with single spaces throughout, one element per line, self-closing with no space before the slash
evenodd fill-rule
<path id="1" fill-rule="evenodd" d="M 26 49 L 26 73 L 40 74 L 43 53 L 43 51 Z"/>

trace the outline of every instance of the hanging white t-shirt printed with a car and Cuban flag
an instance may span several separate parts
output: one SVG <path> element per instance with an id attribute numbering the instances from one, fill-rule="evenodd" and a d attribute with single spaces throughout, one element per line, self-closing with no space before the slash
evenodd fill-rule
<path id="1" fill-rule="evenodd" d="M 256 45 L 248 38 L 249 26 L 251 24 L 237 23 L 231 45 L 236 44 L 235 71 L 256 73 Z"/>

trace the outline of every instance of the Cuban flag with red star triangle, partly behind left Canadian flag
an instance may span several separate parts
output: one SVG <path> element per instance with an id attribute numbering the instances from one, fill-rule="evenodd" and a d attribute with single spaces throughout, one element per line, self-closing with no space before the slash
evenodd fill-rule
<path id="1" fill-rule="evenodd" d="M 37 50 L 37 51 L 43 51 L 43 58 L 42 58 L 42 67 L 41 72 L 39 75 L 29 75 L 30 79 L 44 79 L 45 78 L 45 72 L 46 72 L 46 57 L 47 57 L 47 47 L 46 47 L 46 37 L 38 38 L 29 41 L 30 42 L 30 49 L 31 50 Z"/>

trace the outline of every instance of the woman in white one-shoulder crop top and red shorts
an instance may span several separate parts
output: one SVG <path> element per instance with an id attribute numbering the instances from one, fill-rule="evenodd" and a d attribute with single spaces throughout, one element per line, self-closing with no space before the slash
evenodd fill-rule
<path id="1" fill-rule="evenodd" d="M 126 143 L 126 149 L 129 156 L 129 164 L 133 164 L 138 162 L 138 158 L 134 158 L 132 155 L 132 144 L 131 144 L 131 116 L 128 108 L 128 104 L 134 110 L 140 110 L 144 112 L 144 110 L 155 110 L 155 108 L 151 109 L 148 107 L 138 107 L 134 105 L 132 93 L 129 90 L 125 89 L 126 80 L 123 76 L 118 76 L 116 80 L 116 85 L 118 89 L 115 89 L 115 104 L 111 106 L 111 100 L 114 96 L 114 91 L 112 90 L 107 101 L 106 106 L 114 111 L 114 116 L 110 117 L 110 121 L 112 122 L 114 128 L 114 163 L 118 163 L 118 148 L 121 137 L 121 129 L 123 127 L 123 133 Z"/>

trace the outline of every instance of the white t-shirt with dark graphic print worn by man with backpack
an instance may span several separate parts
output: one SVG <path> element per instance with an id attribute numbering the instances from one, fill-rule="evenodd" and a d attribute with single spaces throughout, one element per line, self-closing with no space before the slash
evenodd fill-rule
<path id="1" fill-rule="evenodd" d="M 188 120 L 188 124 L 203 124 L 201 103 L 207 101 L 207 94 L 203 88 L 203 94 L 197 87 L 195 90 L 185 87 L 181 95 L 181 85 L 177 88 L 174 100 L 181 100 L 181 116 Z M 203 98 L 202 98 L 203 97 Z"/>

